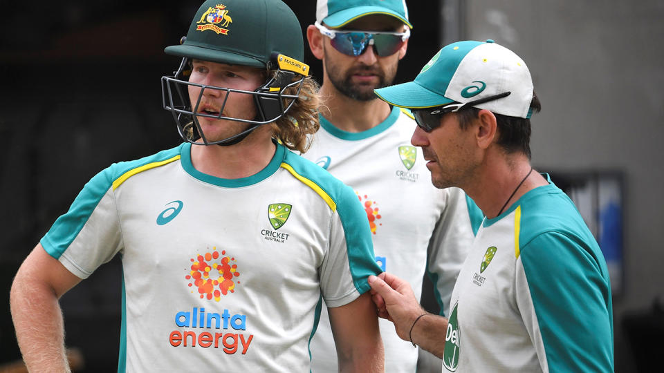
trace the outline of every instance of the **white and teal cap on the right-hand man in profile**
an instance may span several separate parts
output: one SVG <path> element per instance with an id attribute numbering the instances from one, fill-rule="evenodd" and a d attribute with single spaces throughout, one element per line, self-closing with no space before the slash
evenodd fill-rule
<path id="1" fill-rule="evenodd" d="M 383 101 L 405 108 L 431 108 L 510 92 L 473 105 L 510 117 L 531 117 L 533 79 L 514 52 L 487 41 L 458 41 L 439 50 L 414 82 L 374 90 Z"/>

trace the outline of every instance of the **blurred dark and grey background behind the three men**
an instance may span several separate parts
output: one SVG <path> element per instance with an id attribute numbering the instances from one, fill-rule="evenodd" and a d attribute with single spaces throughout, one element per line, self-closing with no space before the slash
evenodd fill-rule
<path id="1" fill-rule="evenodd" d="M 161 107 L 159 83 L 179 61 L 163 48 L 178 44 L 200 3 L 2 3 L 0 372 L 21 358 L 8 305 L 21 261 L 95 173 L 180 142 Z M 286 3 L 303 31 L 315 20 L 315 1 Z M 580 193 L 580 201 L 590 200 L 591 215 L 593 198 L 586 191 L 596 190 L 593 180 L 618 175 L 620 277 L 611 278 L 620 289 L 614 291 L 616 372 L 649 372 L 664 339 L 664 254 L 657 235 L 664 227 L 664 68 L 657 47 L 664 36 L 663 4 L 409 5 L 414 29 L 395 83 L 414 79 L 448 42 L 496 39 L 528 62 L 543 102 L 542 115 L 533 120 L 535 166 L 552 171 L 563 187 Z M 305 50 L 305 62 L 320 77 L 320 61 Z M 66 343 L 84 362 L 77 372 L 116 370 L 120 276 L 116 258 L 62 298 Z"/>

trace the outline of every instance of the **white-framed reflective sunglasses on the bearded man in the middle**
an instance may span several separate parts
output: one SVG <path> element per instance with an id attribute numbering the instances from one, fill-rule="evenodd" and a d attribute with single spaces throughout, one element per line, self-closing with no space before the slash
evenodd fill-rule
<path id="1" fill-rule="evenodd" d="M 389 31 L 356 31 L 356 30 L 330 30 L 320 22 L 316 21 L 315 26 L 326 37 L 330 38 L 330 44 L 348 56 L 359 56 L 364 53 L 369 46 L 374 47 L 374 53 L 380 57 L 394 55 L 405 41 L 410 37 L 410 29 L 405 32 Z"/>

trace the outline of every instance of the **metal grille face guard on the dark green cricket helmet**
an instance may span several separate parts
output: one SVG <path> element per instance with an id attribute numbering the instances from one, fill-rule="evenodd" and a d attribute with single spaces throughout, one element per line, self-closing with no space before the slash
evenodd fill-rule
<path id="1" fill-rule="evenodd" d="M 273 53 L 268 67 L 270 71 L 276 68 L 276 73 L 273 77 L 269 77 L 267 82 L 259 86 L 259 88 L 249 91 L 188 82 L 186 80 L 187 75 L 189 75 L 186 70 L 188 64 L 189 58 L 184 57 L 178 71 L 173 76 L 164 76 L 161 78 L 161 93 L 163 108 L 172 113 L 178 127 L 178 133 L 182 139 L 197 145 L 218 144 L 224 146 L 237 144 L 237 142 L 243 140 L 244 137 L 259 126 L 270 124 L 283 117 L 299 97 L 302 83 L 308 75 L 309 70 L 306 64 L 296 59 Z M 194 103 L 191 102 L 189 95 L 190 86 L 199 88 L 199 94 Z M 284 93 L 284 90 L 292 91 L 290 88 L 295 88 L 295 92 Z M 219 115 L 199 113 L 201 99 L 207 89 L 223 92 L 223 103 L 221 108 L 219 108 Z M 230 93 L 252 95 L 256 105 L 256 117 L 254 119 L 241 119 L 223 115 Z M 199 117 L 225 119 L 251 124 L 251 126 L 231 137 L 210 141 L 205 137 L 205 133 L 203 133 Z"/>

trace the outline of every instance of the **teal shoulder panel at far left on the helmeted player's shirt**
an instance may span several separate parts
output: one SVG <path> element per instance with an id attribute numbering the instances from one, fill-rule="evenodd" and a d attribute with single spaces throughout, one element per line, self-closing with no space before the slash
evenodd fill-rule
<path id="1" fill-rule="evenodd" d="M 114 163 L 95 175 L 78 193 L 71 207 L 69 207 L 69 211 L 57 218 L 53 226 L 50 227 L 46 235 L 40 240 L 46 252 L 56 259 L 64 253 L 71 242 L 78 236 L 81 229 L 83 229 L 83 226 L 90 218 L 100 200 L 102 200 L 102 197 L 104 197 L 113 185 L 114 180 L 120 178 L 124 173 L 145 164 L 172 158 L 180 154 L 181 147 L 182 145 L 174 149 L 161 151 L 149 157 L 143 157 L 140 160 Z"/>

